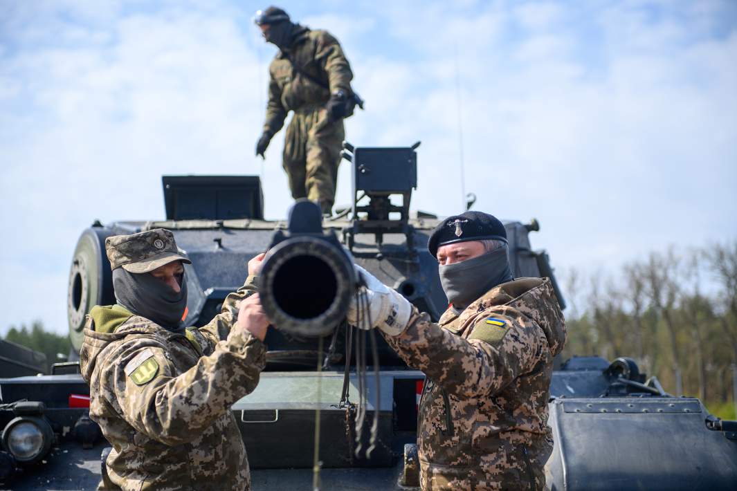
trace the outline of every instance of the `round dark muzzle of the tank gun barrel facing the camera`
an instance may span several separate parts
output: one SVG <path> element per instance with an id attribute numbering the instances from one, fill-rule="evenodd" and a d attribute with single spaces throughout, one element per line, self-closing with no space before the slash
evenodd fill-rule
<path id="1" fill-rule="evenodd" d="M 287 231 L 274 233 L 259 281 L 264 311 L 280 331 L 325 336 L 346 317 L 356 273 L 335 232 L 323 232 L 320 207 L 299 199 Z"/>

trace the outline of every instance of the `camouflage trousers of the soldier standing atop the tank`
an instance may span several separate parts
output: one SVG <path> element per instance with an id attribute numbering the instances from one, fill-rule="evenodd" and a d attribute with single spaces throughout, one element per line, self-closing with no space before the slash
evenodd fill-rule
<path id="1" fill-rule="evenodd" d="M 330 122 L 322 106 L 296 110 L 284 138 L 283 166 L 294 199 L 307 197 L 330 211 L 338 184 L 343 121 Z"/>

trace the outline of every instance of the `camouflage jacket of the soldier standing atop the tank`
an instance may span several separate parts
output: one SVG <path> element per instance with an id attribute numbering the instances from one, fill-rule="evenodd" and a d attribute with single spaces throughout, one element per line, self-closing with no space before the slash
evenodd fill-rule
<path id="1" fill-rule="evenodd" d="M 301 26 L 296 29 L 298 34 L 292 49 L 288 53 L 279 51 L 269 66 L 269 100 L 264 123 L 264 133 L 269 135 L 282 129 L 290 110 L 323 106 L 330 94 L 338 90 L 351 93 L 353 72 L 338 40 L 326 31 Z M 299 74 L 290 59 L 329 89 Z"/>

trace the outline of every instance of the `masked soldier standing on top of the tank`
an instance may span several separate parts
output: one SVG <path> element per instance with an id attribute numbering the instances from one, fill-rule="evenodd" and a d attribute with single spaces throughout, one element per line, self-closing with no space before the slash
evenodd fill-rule
<path id="1" fill-rule="evenodd" d="M 284 10 L 268 7 L 254 22 L 279 48 L 269 66 L 268 105 L 256 155 L 264 152 L 293 111 L 284 137 L 283 163 L 294 199 L 307 197 L 329 215 L 335 202 L 343 118 L 353 112 L 351 66 L 329 32 L 293 24 Z"/>

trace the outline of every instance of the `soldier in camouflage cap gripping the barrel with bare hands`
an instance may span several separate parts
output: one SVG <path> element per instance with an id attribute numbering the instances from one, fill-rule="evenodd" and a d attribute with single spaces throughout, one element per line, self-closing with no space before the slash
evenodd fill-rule
<path id="1" fill-rule="evenodd" d="M 113 450 L 100 490 L 248 490 L 234 402 L 265 366 L 268 328 L 254 276 L 201 328 L 182 328 L 186 281 L 169 230 L 105 240 L 116 305 L 92 308 L 80 366 L 90 417 Z"/>

